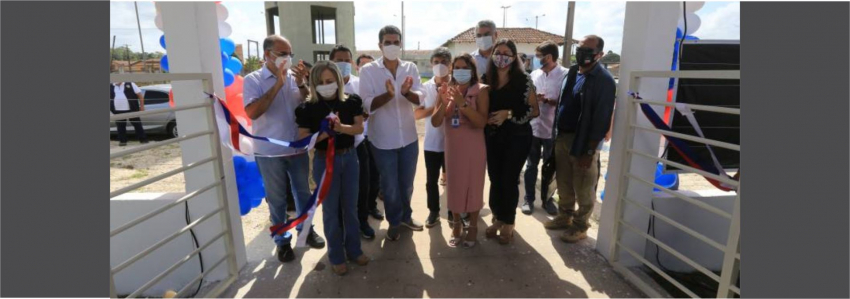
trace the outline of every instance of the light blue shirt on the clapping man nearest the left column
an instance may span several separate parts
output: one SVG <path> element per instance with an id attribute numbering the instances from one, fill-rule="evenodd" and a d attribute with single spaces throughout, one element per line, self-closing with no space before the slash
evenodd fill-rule
<path id="1" fill-rule="evenodd" d="M 247 76 L 242 86 L 245 107 L 257 101 L 274 86 L 277 78 L 265 66 Z M 283 141 L 298 139 L 298 125 L 295 123 L 295 108 L 302 102 L 301 92 L 295 83 L 292 71 L 286 74 L 286 83 L 272 100 L 269 109 L 251 123 L 252 134 Z M 266 141 L 254 141 L 254 152 L 261 155 L 291 156 L 304 153 L 290 147 L 280 146 Z"/>

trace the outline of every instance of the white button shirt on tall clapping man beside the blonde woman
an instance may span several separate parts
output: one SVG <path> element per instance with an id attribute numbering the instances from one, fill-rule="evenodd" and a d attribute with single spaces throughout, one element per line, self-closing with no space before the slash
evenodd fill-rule
<path id="1" fill-rule="evenodd" d="M 360 97 L 363 108 L 369 112 L 369 141 L 377 148 L 390 150 L 402 148 L 419 139 L 416 133 L 416 119 L 413 116 L 415 105 L 401 95 L 401 85 L 408 76 L 413 78 L 410 92 L 423 99 L 422 81 L 416 65 L 398 60 L 396 76 L 384 66 L 384 58 L 372 61 L 360 69 Z M 380 108 L 372 111 L 375 97 L 387 92 L 385 82 L 393 82 L 395 97 Z"/>

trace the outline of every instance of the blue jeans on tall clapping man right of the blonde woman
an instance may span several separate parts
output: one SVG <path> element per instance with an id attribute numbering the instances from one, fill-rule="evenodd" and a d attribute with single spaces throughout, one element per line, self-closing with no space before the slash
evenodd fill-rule
<path id="1" fill-rule="evenodd" d="M 409 222 L 413 214 L 410 198 L 413 197 L 413 177 L 419 160 L 419 141 L 397 149 L 383 150 L 375 145 L 372 149 L 375 150 L 375 165 L 381 174 L 387 222 L 391 226 Z"/>

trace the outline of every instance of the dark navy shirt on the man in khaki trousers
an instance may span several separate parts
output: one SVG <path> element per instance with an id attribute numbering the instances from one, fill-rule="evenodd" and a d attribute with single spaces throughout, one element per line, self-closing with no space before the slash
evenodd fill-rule
<path id="1" fill-rule="evenodd" d="M 564 88 L 555 114 L 558 133 L 572 131 L 576 134 L 570 147 L 570 155 L 576 157 L 595 150 L 587 148 L 591 141 L 605 138 L 611 128 L 617 90 L 614 78 L 602 64 L 597 63 L 584 77 L 584 84 L 573 95 L 573 87 L 578 81 L 578 66 L 570 67 L 564 78 L 566 82 L 562 83 Z"/>

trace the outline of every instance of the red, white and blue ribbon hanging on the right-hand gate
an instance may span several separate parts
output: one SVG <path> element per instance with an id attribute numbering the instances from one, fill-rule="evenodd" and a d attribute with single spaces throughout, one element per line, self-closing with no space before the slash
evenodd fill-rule
<path id="1" fill-rule="evenodd" d="M 632 96 L 632 98 L 634 98 L 634 99 L 642 100 L 641 97 L 634 92 L 629 92 L 629 95 Z M 684 106 L 684 105 L 677 105 L 677 106 Z M 659 129 L 659 130 L 662 130 L 662 131 L 667 131 L 667 132 L 673 132 L 673 129 L 671 129 L 670 126 L 668 126 L 664 122 L 664 120 L 662 120 L 661 117 L 659 117 L 658 114 L 655 113 L 655 110 L 653 110 L 652 107 L 649 104 L 640 103 L 640 109 L 643 112 L 643 115 L 646 116 L 646 118 L 649 120 L 649 122 L 652 123 L 652 125 L 656 129 Z M 689 111 L 690 111 L 690 109 L 685 110 L 686 113 L 689 112 Z M 685 113 L 683 113 L 683 114 L 685 114 Z M 693 117 L 693 112 L 690 112 L 690 115 L 685 114 L 685 117 L 689 118 L 689 121 L 691 122 L 692 125 L 696 122 L 696 119 L 690 120 L 690 118 Z M 698 127 L 695 128 L 695 129 L 697 130 L 700 137 L 705 138 L 702 134 L 702 130 L 700 130 Z M 723 171 L 723 167 L 720 166 L 720 163 L 717 162 L 717 159 L 715 157 L 713 157 L 714 151 L 712 151 L 711 147 L 709 147 L 707 144 L 706 144 L 706 146 L 708 147 L 709 152 L 712 155 L 712 159 L 715 162 L 714 164 L 707 164 L 707 163 L 704 163 L 702 160 L 698 161 L 698 158 L 697 158 L 698 156 L 696 155 L 696 153 L 694 153 L 693 150 L 691 150 L 690 146 L 688 146 L 688 144 L 684 140 L 682 140 L 681 138 L 669 136 L 667 134 L 662 134 L 662 136 L 664 136 L 664 138 L 666 138 L 667 141 L 670 142 L 670 145 L 673 147 L 673 149 L 676 152 L 678 152 L 679 155 L 682 156 L 683 159 L 685 159 L 685 162 L 687 162 L 689 166 L 696 168 L 696 169 L 699 169 L 699 170 L 702 170 L 702 171 L 705 171 L 705 172 L 708 172 L 708 173 L 725 176 L 725 177 L 729 178 L 730 180 L 736 180 L 737 181 L 737 179 L 730 177 L 728 174 L 726 174 L 725 171 Z M 705 176 L 703 176 L 703 177 L 705 177 Z M 734 191 L 734 188 L 732 186 L 721 183 L 720 181 L 718 181 L 716 179 L 709 178 L 709 177 L 705 177 L 705 179 L 708 180 L 709 183 L 711 183 L 712 185 L 714 185 L 715 187 L 717 187 L 720 190 Z"/>

